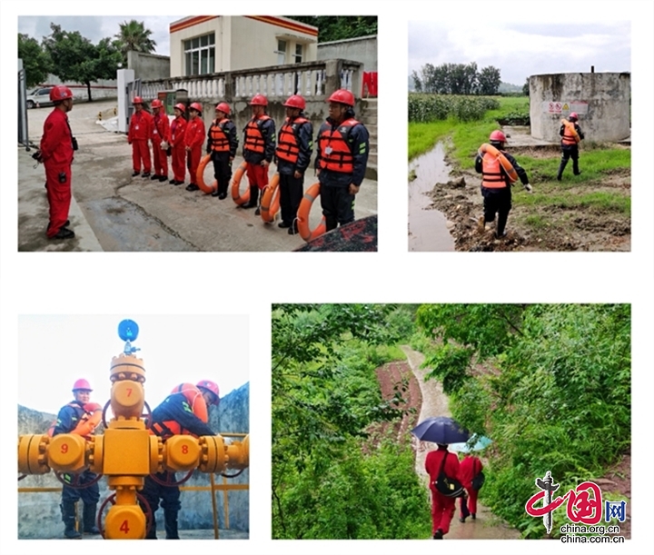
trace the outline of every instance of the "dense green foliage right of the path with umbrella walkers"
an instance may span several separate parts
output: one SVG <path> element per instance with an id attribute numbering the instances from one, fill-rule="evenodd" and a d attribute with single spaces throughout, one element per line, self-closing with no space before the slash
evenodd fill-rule
<path id="1" fill-rule="evenodd" d="M 524 510 L 536 477 L 564 494 L 629 449 L 629 305 L 424 305 L 417 322 L 453 416 L 494 441 L 484 502 L 541 536 Z"/>

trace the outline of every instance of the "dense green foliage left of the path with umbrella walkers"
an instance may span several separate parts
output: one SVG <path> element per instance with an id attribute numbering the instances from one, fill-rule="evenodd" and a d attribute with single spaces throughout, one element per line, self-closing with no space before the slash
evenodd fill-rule
<path id="1" fill-rule="evenodd" d="M 366 441 L 370 424 L 403 414 L 401 388 L 382 401 L 374 370 L 411 333 L 411 310 L 272 307 L 273 538 L 429 536 L 409 441 Z"/>

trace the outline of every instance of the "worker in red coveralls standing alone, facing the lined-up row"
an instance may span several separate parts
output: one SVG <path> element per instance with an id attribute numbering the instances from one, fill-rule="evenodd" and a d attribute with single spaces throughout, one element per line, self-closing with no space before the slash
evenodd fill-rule
<path id="1" fill-rule="evenodd" d="M 37 162 L 45 165 L 45 190 L 50 205 L 48 239 L 72 239 L 74 231 L 68 229 L 68 210 L 71 203 L 71 164 L 77 150 L 68 112 L 73 109 L 73 92 L 64 85 L 50 91 L 54 110 L 45 118 L 44 134 L 39 150 L 34 154 Z"/>

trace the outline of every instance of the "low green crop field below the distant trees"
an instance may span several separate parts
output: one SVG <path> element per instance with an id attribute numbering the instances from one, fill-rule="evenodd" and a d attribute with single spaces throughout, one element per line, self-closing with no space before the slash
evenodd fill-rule
<path id="1" fill-rule="evenodd" d="M 488 110 L 500 107 L 497 100 L 484 96 L 451 94 L 409 94 L 409 121 L 434 122 L 449 117 L 459 122 L 480 120 Z"/>

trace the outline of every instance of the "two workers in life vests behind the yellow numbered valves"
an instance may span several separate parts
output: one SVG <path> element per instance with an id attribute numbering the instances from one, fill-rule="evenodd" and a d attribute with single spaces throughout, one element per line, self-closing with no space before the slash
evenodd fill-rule
<path id="1" fill-rule="evenodd" d="M 89 440 L 99 421 L 97 416 L 102 413 L 99 404 L 90 402 L 92 391 L 88 381 L 80 379 L 74 382 L 74 399 L 58 412 L 48 435 L 54 437 L 62 433 L 74 433 Z M 201 380 L 195 385 L 180 384 L 152 411 L 151 421 L 148 422 L 150 431 L 159 436 L 163 442 L 180 434 L 192 434 L 196 437 L 215 435 L 207 422 L 209 407 L 217 407 L 219 402 L 218 384 L 211 380 Z M 64 474 L 63 480 L 60 509 L 64 520 L 64 538 L 80 540 L 82 533 L 99 534 L 100 530 L 95 523 L 97 503 L 100 500 L 97 474 L 86 470 L 74 479 L 71 474 Z M 163 509 L 166 540 L 179 540 L 177 513 L 181 510 L 182 504 L 177 484 L 174 472 L 164 471 L 154 476 L 145 476 L 141 493 L 152 511 L 146 540 L 156 540 L 154 515 L 160 505 Z M 80 530 L 75 526 L 76 503 L 79 500 L 84 503 Z M 142 509 L 147 512 L 143 504 Z"/>

